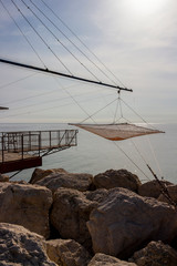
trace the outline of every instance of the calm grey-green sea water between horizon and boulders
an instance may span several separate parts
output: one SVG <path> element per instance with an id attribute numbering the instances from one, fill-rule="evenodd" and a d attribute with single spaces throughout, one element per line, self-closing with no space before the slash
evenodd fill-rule
<path id="1" fill-rule="evenodd" d="M 69 172 L 91 173 L 126 168 L 142 181 L 153 180 L 146 163 L 159 177 L 177 183 L 177 124 L 156 124 L 165 134 L 112 142 L 79 130 L 77 146 L 43 157 L 41 168 L 65 168 Z M 0 124 L 0 131 L 32 131 L 73 129 L 67 124 Z M 137 152 L 138 150 L 138 152 Z M 125 155 L 126 154 L 126 155 Z M 146 163 L 145 163 L 146 162 Z M 34 168 L 24 170 L 13 180 L 29 181 Z M 9 173 L 11 175 L 12 173 Z"/>

